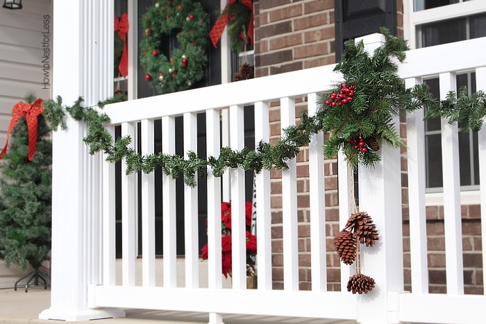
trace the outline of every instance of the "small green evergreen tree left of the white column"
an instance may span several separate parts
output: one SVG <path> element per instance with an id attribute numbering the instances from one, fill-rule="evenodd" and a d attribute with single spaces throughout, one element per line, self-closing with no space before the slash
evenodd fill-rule
<path id="1" fill-rule="evenodd" d="M 33 102 L 33 95 L 26 102 Z M 6 266 L 37 269 L 51 255 L 50 128 L 37 117 L 37 148 L 28 160 L 28 127 L 21 117 L 0 160 L 0 258 Z"/>

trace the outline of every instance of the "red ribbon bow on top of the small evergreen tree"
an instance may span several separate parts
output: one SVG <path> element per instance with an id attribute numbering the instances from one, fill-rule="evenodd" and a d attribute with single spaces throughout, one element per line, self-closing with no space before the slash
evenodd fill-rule
<path id="1" fill-rule="evenodd" d="M 32 157 L 35 153 L 35 147 L 37 146 L 37 116 L 42 114 L 44 107 L 40 105 L 42 99 L 37 99 L 35 103 L 23 103 L 19 101 L 12 108 L 12 120 L 10 120 L 10 125 L 8 126 L 7 132 L 7 142 L 5 147 L 0 152 L 0 160 L 3 159 L 3 155 L 7 152 L 8 137 L 10 136 L 10 130 L 17 125 L 17 121 L 25 115 L 28 128 L 28 160 L 32 161 Z"/>

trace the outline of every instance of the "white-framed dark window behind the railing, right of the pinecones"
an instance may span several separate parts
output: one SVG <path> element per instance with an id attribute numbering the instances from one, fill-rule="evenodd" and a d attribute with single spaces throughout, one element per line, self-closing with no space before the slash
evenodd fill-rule
<path id="1" fill-rule="evenodd" d="M 411 48 L 435 46 L 486 36 L 486 1 L 414 0 L 404 1 L 405 38 Z M 457 89 L 466 86 L 476 92 L 474 72 L 456 76 Z M 439 79 L 424 80 L 439 97 Z M 426 188 L 442 191 L 442 147 L 440 119 L 425 121 Z M 462 191 L 477 190 L 479 185 L 478 134 L 459 133 L 460 185 Z"/>

